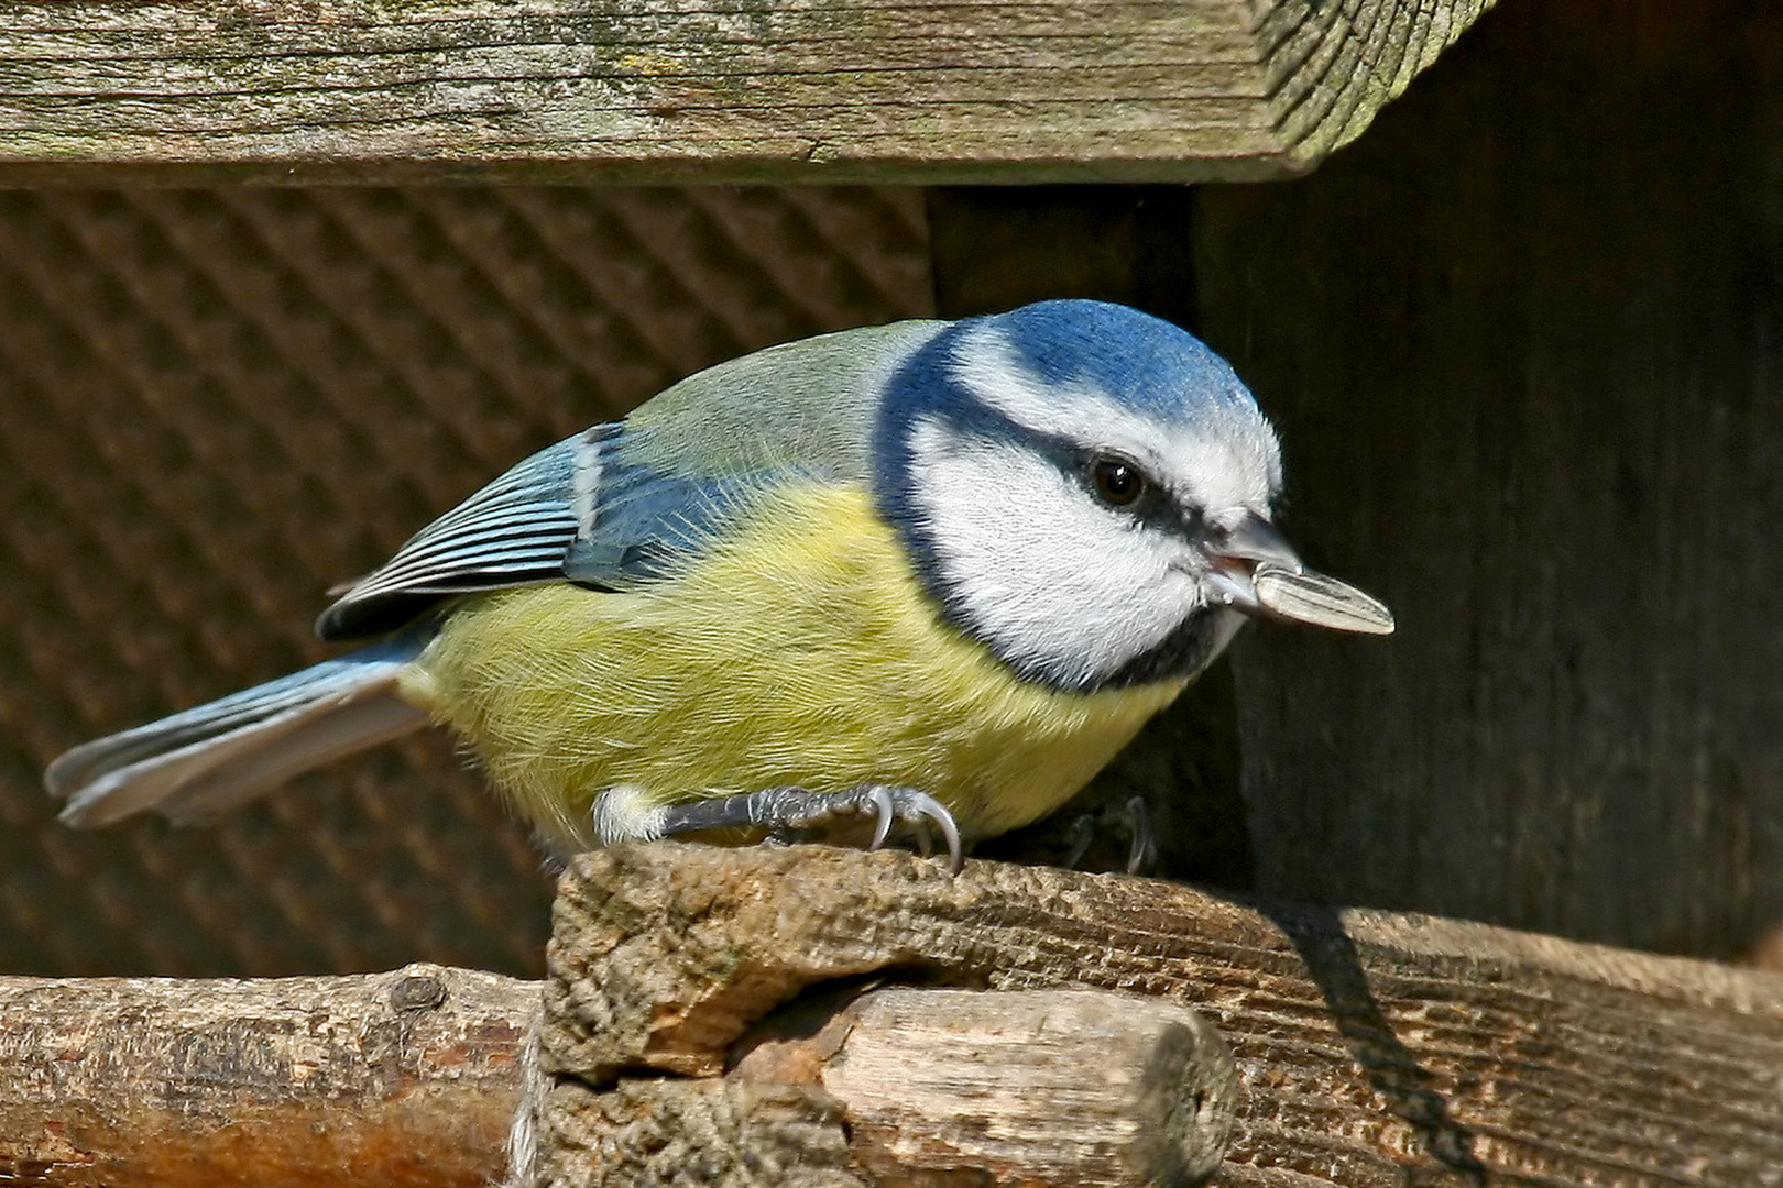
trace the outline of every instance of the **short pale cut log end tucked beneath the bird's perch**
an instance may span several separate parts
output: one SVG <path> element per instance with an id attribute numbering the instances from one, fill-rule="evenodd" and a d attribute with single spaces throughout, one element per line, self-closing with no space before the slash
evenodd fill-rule
<path id="1" fill-rule="evenodd" d="M 1220 1033 L 1163 999 L 884 989 L 820 1026 L 788 1022 L 731 1076 L 822 1086 L 883 1186 L 957 1183 L 961 1168 L 1059 1188 L 1195 1184 L 1237 1117 Z"/>

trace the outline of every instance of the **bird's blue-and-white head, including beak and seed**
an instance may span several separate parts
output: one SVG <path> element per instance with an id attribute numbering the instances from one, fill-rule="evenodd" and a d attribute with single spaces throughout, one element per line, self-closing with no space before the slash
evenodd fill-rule
<path id="1" fill-rule="evenodd" d="M 947 326 L 890 379 L 874 458 L 947 618 L 1031 680 L 1193 675 L 1246 616 L 1393 629 L 1277 533 L 1280 449 L 1227 362 L 1127 306 Z"/>

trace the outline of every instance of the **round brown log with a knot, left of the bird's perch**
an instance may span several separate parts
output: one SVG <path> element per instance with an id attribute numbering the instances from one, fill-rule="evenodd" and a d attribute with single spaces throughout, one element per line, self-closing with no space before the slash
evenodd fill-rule
<path id="1" fill-rule="evenodd" d="M 0 978 L 0 1183 L 426 1184 L 503 1170 L 538 983 Z"/>

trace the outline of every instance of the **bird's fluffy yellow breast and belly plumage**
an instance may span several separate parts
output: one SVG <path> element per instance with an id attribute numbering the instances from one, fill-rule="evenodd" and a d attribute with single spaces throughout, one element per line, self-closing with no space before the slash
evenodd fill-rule
<path id="1" fill-rule="evenodd" d="M 1061 693 L 947 625 L 861 490 L 777 490 L 678 575 L 480 595 L 405 695 L 515 807 L 592 844 L 596 794 L 653 803 L 908 784 L 968 835 L 1045 816 L 1182 691 Z"/>

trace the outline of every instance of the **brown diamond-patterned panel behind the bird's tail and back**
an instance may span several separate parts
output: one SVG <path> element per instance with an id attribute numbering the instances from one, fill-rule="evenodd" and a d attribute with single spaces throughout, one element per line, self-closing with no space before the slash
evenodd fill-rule
<path id="1" fill-rule="evenodd" d="M 39 771 L 323 657 L 528 451 L 931 308 L 916 191 L 0 192 L 0 972 L 537 972 L 549 878 L 440 737 L 214 830 L 64 830 Z"/>

